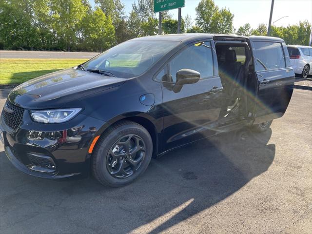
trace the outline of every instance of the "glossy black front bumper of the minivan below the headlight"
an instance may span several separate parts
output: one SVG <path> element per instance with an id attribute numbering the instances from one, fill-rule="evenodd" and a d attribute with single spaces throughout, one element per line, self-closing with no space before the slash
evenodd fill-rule
<path id="1" fill-rule="evenodd" d="M 84 178 L 89 175 L 88 149 L 105 122 L 79 114 L 62 124 L 40 124 L 26 110 L 15 131 L 0 119 L 5 154 L 20 171 L 42 178 Z"/>

